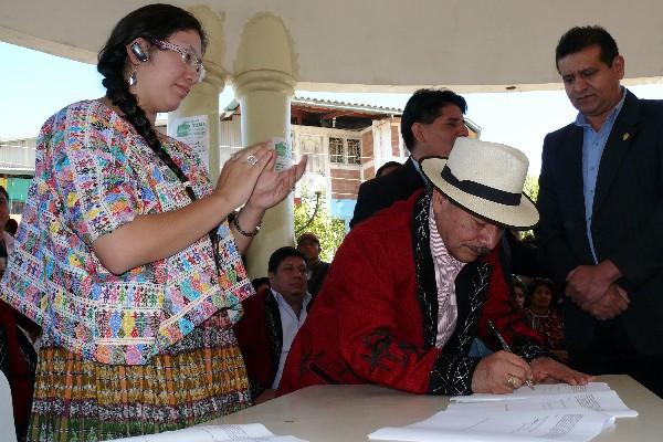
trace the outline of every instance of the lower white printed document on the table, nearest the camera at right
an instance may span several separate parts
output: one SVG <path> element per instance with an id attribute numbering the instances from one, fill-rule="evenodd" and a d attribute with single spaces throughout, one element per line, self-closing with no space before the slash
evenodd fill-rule
<path id="1" fill-rule="evenodd" d="M 387 427 L 370 440 L 438 442 L 586 442 L 611 427 L 614 418 L 591 410 L 582 412 L 518 412 L 476 414 L 441 411 L 407 427 Z"/>

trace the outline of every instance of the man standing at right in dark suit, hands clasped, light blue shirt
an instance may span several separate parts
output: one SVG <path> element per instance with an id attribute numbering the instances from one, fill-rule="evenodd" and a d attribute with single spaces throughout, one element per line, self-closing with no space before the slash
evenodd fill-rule
<path id="1" fill-rule="evenodd" d="M 600 27 L 564 34 L 556 63 L 579 114 L 544 141 L 536 234 L 572 299 L 569 360 L 663 397 L 663 102 L 620 85 L 624 59 Z"/>

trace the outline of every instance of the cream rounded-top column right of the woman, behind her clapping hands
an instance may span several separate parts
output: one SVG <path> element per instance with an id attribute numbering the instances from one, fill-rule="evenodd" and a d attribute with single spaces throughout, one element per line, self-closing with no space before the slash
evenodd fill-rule
<path id="1" fill-rule="evenodd" d="M 284 154 L 292 155 L 290 120 L 296 63 L 291 38 L 280 18 L 260 13 L 246 23 L 234 72 L 235 97 L 242 113 L 242 144 L 251 146 L 278 137 L 290 147 Z M 293 203 L 291 192 L 265 213 L 260 234 L 246 254 L 251 277 L 266 276 L 272 252 L 294 244 Z"/>

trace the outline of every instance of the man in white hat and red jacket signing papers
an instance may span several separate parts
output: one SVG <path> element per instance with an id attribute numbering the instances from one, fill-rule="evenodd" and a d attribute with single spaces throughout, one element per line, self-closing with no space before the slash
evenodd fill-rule
<path id="1" fill-rule="evenodd" d="M 377 383 L 417 393 L 509 392 L 528 379 L 585 383 L 527 336 L 515 354 L 469 356 L 503 229 L 529 229 L 527 158 L 508 146 L 459 139 L 428 158 L 431 181 L 356 225 L 301 328 L 278 393 L 317 383 Z M 313 326 L 315 324 L 315 326 Z M 528 364 L 529 362 L 529 364 Z"/>

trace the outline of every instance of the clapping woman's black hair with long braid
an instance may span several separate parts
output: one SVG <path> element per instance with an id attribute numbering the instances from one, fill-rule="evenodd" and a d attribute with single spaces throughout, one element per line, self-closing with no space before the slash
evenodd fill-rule
<path id="1" fill-rule="evenodd" d="M 97 63 L 97 71 L 104 76 L 102 84 L 106 88 L 106 96 L 125 114 L 125 118 L 181 182 L 187 182 L 187 177 L 161 147 L 157 133 L 138 105 L 136 96 L 129 92 L 125 80 L 128 59 L 126 46 L 138 38 L 147 41 L 166 40 L 178 31 L 190 30 L 200 35 L 204 52 L 206 34 L 196 17 L 172 4 L 145 6 L 129 13 L 115 25 L 99 52 Z M 187 192 L 190 197 L 193 194 L 190 187 L 187 187 Z M 192 199 L 196 197 L 193 196 Z"/>

